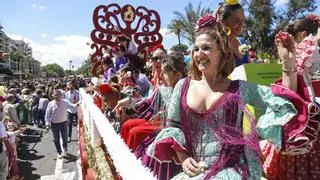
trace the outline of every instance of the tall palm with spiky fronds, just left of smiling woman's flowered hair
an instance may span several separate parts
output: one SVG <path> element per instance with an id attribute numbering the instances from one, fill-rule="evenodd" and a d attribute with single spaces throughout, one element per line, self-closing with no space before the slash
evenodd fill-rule
<path id="1" fill-rule="evenodd" d="M 199 17 L 212 13 L 210 8 L 202 8 L 201 2 L 198 4 L 197 9 L 193 8 L 193 5 L 189 3 L 185 8 L 185 14 L 179 11 L 174 11 L 173 13 L 176 15 L 177 20 L 183 22 L 182 34 L 181 36 L 186 38 L 190 44 L 195 41 L 195 30 L 194 27 L 196 25 Z"/>

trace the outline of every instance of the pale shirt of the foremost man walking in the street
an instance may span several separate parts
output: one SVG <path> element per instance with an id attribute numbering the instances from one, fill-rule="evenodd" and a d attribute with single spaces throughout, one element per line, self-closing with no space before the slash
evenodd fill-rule
<path id="1" fill-rule="evenodd" d="M 67 121 L 67 113 L 70 107 L 75 107 L 75 105 L 63 99 L 58 102 L 56 100 L 50 101 L 45 115 L 46 125 Z"/>

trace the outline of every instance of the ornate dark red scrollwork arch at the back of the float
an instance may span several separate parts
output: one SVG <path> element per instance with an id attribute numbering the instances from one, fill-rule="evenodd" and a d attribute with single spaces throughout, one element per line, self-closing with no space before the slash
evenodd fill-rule
<path id="1" fill-rule="evenodd" d="M 103 55 L 117 44 L 116 37 L 129 37 L 138 49 L 138 55 L 145 59 L 147 48 L 162 43 L 160 16 L 155 10 L 132 5 L 120 7 L 118 4 L 99 5 L 93 12 L 94 29 L 91 31 L 93 54 L 90 56 L 92 75 L 101 74 Z"/>

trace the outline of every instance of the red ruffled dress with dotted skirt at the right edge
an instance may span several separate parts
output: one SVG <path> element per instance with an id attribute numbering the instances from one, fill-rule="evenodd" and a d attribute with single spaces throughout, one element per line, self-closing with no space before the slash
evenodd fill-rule
<path id="1" fill-rule="evenodd" d="M 308 79 L 301 75 L 298 76 L 297 93 L 277 86 L 272 89 L 274 93 L 293 102 L 298 115 L 284 126 L 284 152 L 271 151 L 272 155 L 264 163 L 268 179 L 320 179 L 320 107 L 312 101 L 310 89 Z M 295 149 L 300 153 L 292 151 Z M 287 153 L 287 150 L 291 153 Z"/>

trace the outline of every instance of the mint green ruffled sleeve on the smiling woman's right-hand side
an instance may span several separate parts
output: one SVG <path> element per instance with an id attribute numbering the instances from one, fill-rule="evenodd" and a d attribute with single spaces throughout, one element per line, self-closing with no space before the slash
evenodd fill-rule
<path id="1" fill-rule="evenodd" d="M 285 98 L 276 96 L 266 86 L 240 81 L 240 94 L 246 104 L 255 108 L 257 133 L 261 139 L 282 147 L 282 127 L 288 123 L 297 111 Z"/>

